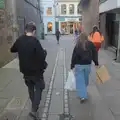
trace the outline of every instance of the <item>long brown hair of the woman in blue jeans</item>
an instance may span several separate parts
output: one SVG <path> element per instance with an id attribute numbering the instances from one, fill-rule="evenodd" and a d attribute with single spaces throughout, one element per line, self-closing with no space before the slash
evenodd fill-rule
<path id="1" fill-rule="evenodd" d="M 77 38 L 77 47 L 87 50 L 88 35 L 85 32 L 82 32 Z"/>

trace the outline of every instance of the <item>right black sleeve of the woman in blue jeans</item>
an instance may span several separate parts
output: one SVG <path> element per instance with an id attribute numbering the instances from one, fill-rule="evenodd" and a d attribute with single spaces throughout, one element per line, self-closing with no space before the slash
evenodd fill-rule
<path id="1" fill-rule="evenodd" d="M 92 58 L 93 58 L 93 62 L 95 63 L 96 66 L 99 65 L 98 62 L 98 52 L 96 50 L 95 45 L 91 42 L 91 46 L 92 46 Z"/>

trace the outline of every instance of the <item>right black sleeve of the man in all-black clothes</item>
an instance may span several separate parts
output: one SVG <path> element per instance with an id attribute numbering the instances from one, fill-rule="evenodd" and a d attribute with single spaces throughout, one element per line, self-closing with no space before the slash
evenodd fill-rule
<path id="1" fill-rule="evenodd" d="M 40 42 L 38 40 L 36 40 L 36 44 L 35 44 L 35 50 L 36 50 L 36 55 L 37 58 L 39 59 L 39 61 L 41 62 L 41 64 L 45 63 L 45 58 L 47 55 L 46 50 L 44 50 L 40 44 Z"/>

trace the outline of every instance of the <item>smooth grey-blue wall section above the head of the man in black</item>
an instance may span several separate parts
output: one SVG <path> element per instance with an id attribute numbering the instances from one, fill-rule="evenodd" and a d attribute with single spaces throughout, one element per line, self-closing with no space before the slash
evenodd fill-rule
<path id="1" fill-rule="evenodd" d="M 30 3 L 27 3 L 25 0 L 17 0 L 16 9 L 17 9 L 17 18 L 19 24 L 22 23 L 26 24 L 30 21 L 35 22 L 36 25 L 40 24 L 39 11 L 37 8 L 34 8 Z"/>

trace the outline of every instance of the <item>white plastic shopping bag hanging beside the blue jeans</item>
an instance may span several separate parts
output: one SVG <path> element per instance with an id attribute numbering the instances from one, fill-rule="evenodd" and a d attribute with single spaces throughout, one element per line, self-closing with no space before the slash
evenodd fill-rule
<path id="1" fill-rule="evenodd" d="M 76 81 L 75 81 L 75 76 L 72 70 L 68 73 L 65 89 L 70 91 L 76 90 Z"/>

